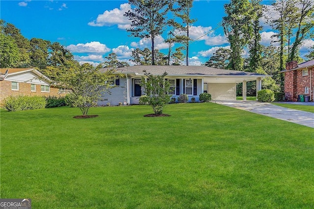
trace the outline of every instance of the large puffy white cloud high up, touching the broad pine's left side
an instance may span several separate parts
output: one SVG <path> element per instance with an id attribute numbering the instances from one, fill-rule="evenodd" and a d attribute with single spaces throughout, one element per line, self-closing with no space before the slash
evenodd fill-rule
<path id="1" fill-rule="evenodd" d="M 118 25 L 120 29 L 126 29 L 131 27 L 131 21 L 123 15 L 131 10 L 131 6 L 128 3 L 124 3 L 120 5 L 120 9 L 115 8 L 113 10 L 106 10 L 104 14 L 98 15 L 97 19 L 89 22 L 89 26 L 112 26 Z"/>

